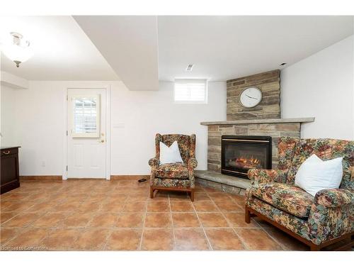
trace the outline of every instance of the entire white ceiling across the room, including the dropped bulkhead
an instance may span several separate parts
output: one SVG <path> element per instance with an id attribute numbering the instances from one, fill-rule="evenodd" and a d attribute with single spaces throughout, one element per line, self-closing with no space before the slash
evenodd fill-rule
<path id="1" fill-rule="evenodd" d="M 353 25 L 352 16 L 0 17 L 0 33 L 19 31 L 35 50 L 19 68 L 1 57 L 1 70 L 156 90 L 159 80 L 224 81 L 287 67 L 353 35 Z"/>

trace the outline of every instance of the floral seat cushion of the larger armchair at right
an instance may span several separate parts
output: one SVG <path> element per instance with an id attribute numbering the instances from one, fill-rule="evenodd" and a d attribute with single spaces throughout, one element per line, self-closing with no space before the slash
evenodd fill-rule
<path id="1" fill-rule="evenodd" d="M 251 187 L 251 193 L 275 208 L 301 218 L 309 217 L 309 211 L 314 203 L 314 196 L 291 184 L 274 182 L 256 184 Z"/>

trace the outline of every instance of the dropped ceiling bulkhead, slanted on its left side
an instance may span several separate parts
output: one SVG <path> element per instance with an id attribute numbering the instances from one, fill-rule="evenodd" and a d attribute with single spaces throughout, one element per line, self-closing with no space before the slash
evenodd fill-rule
<path id="1" fill-rule="evenodd" d="M 130 90 L 158 90 L 156 16 L 74 16 Z"/>

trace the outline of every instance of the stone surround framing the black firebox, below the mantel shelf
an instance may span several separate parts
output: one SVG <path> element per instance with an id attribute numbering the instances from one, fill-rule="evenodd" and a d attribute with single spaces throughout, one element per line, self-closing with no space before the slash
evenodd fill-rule
<path id="1" fill-rule="evenodd" d="M 222 135 L 268 135 L 272 137 L 273 168 L 278 166 L 278 140 L 280 137 L 300 137 L 300 123 L 260 123 L 208 126 L 207 170 L 221 171 Z"/>

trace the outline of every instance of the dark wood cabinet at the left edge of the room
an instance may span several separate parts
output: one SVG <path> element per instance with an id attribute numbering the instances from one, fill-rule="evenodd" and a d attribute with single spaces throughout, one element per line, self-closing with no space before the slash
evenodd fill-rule
<path id="1" fill-rule="evenodd" d="M 1 194 L 20 187 L 18 148 L 1 147 Z"/>

